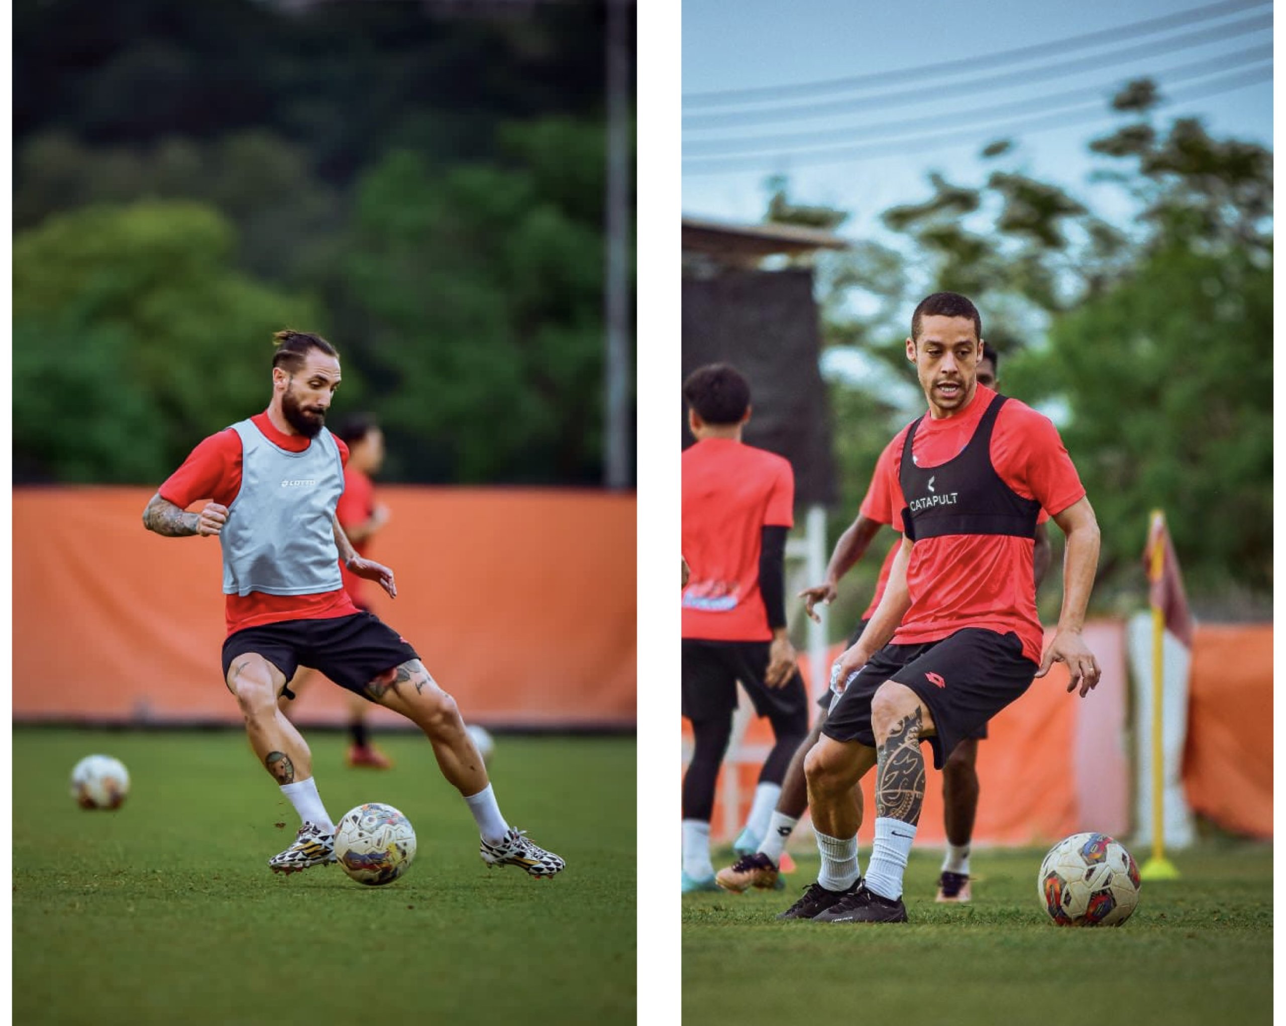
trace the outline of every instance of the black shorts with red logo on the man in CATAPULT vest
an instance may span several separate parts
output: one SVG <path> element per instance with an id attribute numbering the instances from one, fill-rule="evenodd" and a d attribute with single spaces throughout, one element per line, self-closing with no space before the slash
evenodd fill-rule
<path id="1" fill-rule="evenodd" d="M 928 742 L 934 766 L 941 769 L 961 741 L 976 737 L 979 726 L 1031 685 L 1037 669 L 1013 631 L 966 627 L 939 642 L 885 645 L 844 689 L 822 733 L 874 747 L 871 699 L 881 684 L 895 680 L 928 707 L 936 728 Z"/>

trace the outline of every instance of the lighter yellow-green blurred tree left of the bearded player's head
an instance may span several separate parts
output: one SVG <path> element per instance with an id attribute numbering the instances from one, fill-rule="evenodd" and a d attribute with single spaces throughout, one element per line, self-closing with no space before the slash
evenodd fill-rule
<path id="1" fill-rule="evenodd" d="M 217 211 L 181 202 L 87 207 L 14 239 L 17 480 L 159 483 L 266 406 L 271 333 L 324 325 L 234 270 L 235 244 Z"/>

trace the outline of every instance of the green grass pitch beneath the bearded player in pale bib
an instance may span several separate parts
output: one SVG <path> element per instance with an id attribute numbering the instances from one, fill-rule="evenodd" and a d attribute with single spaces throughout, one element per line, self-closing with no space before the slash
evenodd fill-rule
<path id="1" fill-rule="evenodd" d="M 332 816 L 381 801 L 412 820 L 401 879 L 271 874 L 298 822 L 238 732 L 15 730 L 13 1021 L 634 1022 L 633 739 L 498 738 L 507 818 L 567 859 L 548 881 L 484 865 L 422 737 L 381 737 L 386 773 L 345 768 L 340 734 L 309 741 Z M 69 797 L 93 752 L 130 770 L 117 811 Z"/>

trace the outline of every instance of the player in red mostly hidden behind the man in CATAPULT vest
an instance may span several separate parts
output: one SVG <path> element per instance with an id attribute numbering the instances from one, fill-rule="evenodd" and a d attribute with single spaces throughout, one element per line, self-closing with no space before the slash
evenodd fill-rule
<path id="1" fill-rule="evenodd" d="M 1001 365 L 995 350 L 983 343 L 983 357 L 977 361 L 977 383 L 985 388 L 995 388 L 999 383 L 997 377 Z M 835 552 L 831 553 L 831 562 L 827 564 L 826 581 L 800 591 L 808 615 L 818 620 L 814 606 L 818 603 L 831 603 L 838 595 L 840 579 L 858 564 L 865 554 L 874 536 L 881 527 L 891 526 L 894 509 L 889 492 L 889 469 L 898 453 L 890 442 L 880 454 L 874 473 L 871 476 L 871 485 L 867 495 L 862 500 L 862 507 L 856 519 L 849 525 L 847 530 L 840 535 L 835 543 Z M 1044 580 L 1049 568 L 1049 532 L 1046 527 L 1048 514 L 1042 510 L 1037 523 L 1035 552 L 1033 563 L 1035 567 L 1037 588 Z M 862 631 L 872 613 L 883 598 L 885 585 L 889 581 L 889 571 L 892 561 L 898 555 L 898 543 L 889 546 L 883 564 L 880 567 L 880 577 L 876 581 L 874 595 L 871 604 L 862 613 L 862 622 L 849 638 L 849 645 L 856 644 Z M 766 823 L 766 828 L 754 831 L 750 824 L 742 831 L 734 846 L 741 856 L 733 865 L 720 869 L 715 879 L 720 887 L 729 891 L 745 891 L 747 887 L 769 888 L 778 886 L 778 873 L 784 858 L 786 841 L 790 838 L 795 824 L 808 809 L 808 783 L 804 779 L 804 759 L 809 750 L 822 737 L 822 725 L 826 723 L 826 712 L 831 706 L 833 693 L 826 688 L 818 699 L 822 714 L 813 725 L 808 738 L 800 744 L 791 759 L 786 779 L 782 782 L 782 793 L 777 800 L 777 807 Z M 961 741 L 946 759 L 943 766 L 943 818 L 946 827 L 946 854 L 943 859 L 941 876 L 937 881 L 937 900 L 945 903 L 966 903 L 972 897 L 970 887 L 970 845 L 974 837 L 974 822 L 977 818 L 977 798 L 980 793 L 977 780 L 977 743 L 986 738 L 986 724 L 977 728 L 970 737 Z M 854 801 L 858 805 L 859 815 L 862 809 L 862 792 L 854 792 Z"/>

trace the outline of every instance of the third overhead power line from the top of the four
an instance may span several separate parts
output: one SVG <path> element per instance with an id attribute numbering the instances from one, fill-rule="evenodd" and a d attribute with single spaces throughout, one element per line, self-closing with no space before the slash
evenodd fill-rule
<path id="1" fill-rule="evenodd" d="M 1206 60 L 1195 60 L 1190 64 L 1179 64 L 1173 68 L 1166 68 L 1165 71 L 1139 72 L 1132 77 L 1142 78 L 1146 76 L 1159 80 L 1163 86 L 1168 86 L 1178 82 L 1186 82 L 1191 78 L 1202 78 L 1209 75 L 1218 75 L 1219 72 L 1228 71 L 1231 66 L 1245 68 L 1246 66 L 1259 60 L 1271 60 L 1272 55 L 1273 46 L 1269 42 L 1263 46 L 1253 46 L 1247 50 L 1240 50 L 1232 54 L 1220 54 L 1219 57 L 1209 58 Z M 788 149 L 791 147 L 810 144 L 833 144 L 840 138 L 851 141 L 869 136 L 878 139 L 889 135 L 890 132 L 895 136 L 905 135 L 908 129 L 941 129 L 944 122 L 949 122 L 953 127 L 957 127 L 962 123 L 985 123 L 988 121 L 1012 117 L 1015 114 L 1037 112 L 1048 113 L 1049 111 L 1066 107 L 1093 107 L 1101 111 L 1102 98 L 1093 95 L 1094 91 L 1118 89 L 1120 85 L 1123 85 L 1120 80 L 1114 80 L 1110 84 L 1105 82 L 1096 86 L 1082 86 L 1078 89 L 1065 90 L 1062 93 L 1051 93 L 1044 96 L 1028 96 L 1021 100 L 989 104 L 986 107 L 976 107 L 967 111 L 944 111 L 940 113 L 925 114 L 923 117 L 876 121 L 867 125 L 836 125 L 829 129 L 800 132 L 778 132 L 775 135 L 743 135 L 729 139 L 698 139 L 684 143 L 683 152 L 684 156 L 688 157 L 734 157 L 747 152 L 761 152 L 765 147 Z"/>

